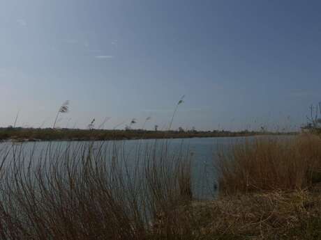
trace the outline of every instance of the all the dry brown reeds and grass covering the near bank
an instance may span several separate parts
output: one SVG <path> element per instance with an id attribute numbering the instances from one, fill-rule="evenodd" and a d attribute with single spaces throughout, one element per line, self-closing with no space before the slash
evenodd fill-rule
<path id="1" fill-rule="evenodd" d="M 188 152 L 167 141 L 134 161 L 121 142 L 23 146 L 0 150 L 0 239 L 321 239 L 318 136 L 234 145 L 219 161 L 229 194 L 198 202 Z"/>

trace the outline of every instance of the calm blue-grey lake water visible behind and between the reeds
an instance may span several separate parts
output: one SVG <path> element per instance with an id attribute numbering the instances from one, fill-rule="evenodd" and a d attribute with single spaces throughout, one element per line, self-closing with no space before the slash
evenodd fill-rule
<path id="1" fill-rule="evenodd" d="M 267 136 L 264 136 L 266 138 Z M 280 137 L 280 136 L 279 136 Z M 181 154 L 186 158 L 191 158 L 192 162 L 192 189 L 193 195 L 198 199 L 215 198 L 217 194 L 217 170 L 215 167 L 220 150 L 227 150 L 234 143 L 242 143 L 246 140 L 252 141 L 255 137 L 221 137 L 221 138 L 184 138 L 184 139 L 168 139 L 168 140 L 128 140 L 128 141 L 105 141 L 95 142 L 95 146 L 105 145 L 110 149 L 117 146 L 121 156 L 126 161 L 134 164 L 133 159 L 137 159 L 137 154 L 143 154 L 145 149 L 153 147 L 156 143 L 159 146 L 168 143 L 168 152 L 170 155 Z M 276 138 L 276 136 L 273 136 Z M 282 136 L 288 138 L 288 136 Z M 63 142 L 57 141 L 50 143 L 54 149 L 66 149 L 66 146 L 77 147 L 86 142 Z M 37 143 L 21 143 L 16 147 L 21 147 L 25 154 L 30 154 L 33 151 L 33 159 L 38 159 L 38 156 L 43 154 L 49 142 Z M 0 159 L 6 152 L 6 148 L 12 147 L 11 143 L 0 143 Z M 141 156 L 141 155 L 140 155 Z M 10 159 L 10 158 L 9 158 Z M 36 161 L 36 160 L 35 160 Z"/>

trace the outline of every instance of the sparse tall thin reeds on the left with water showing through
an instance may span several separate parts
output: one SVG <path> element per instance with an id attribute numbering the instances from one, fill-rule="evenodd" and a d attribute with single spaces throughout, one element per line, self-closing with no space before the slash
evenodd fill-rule
<path id="1" fill-rule="evenodd" d="M 121 143 L 64 144 L 0 151 L 1 239 L 193 239 L 174 211 L 190 205 L 188 159 L 156 143 L 135 159 Z"/>

